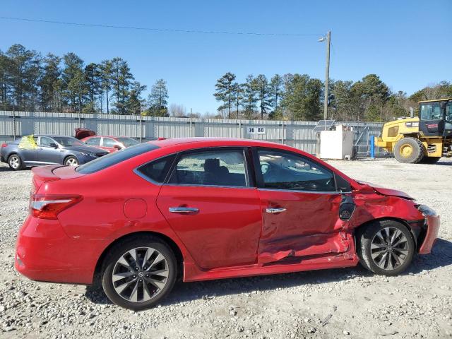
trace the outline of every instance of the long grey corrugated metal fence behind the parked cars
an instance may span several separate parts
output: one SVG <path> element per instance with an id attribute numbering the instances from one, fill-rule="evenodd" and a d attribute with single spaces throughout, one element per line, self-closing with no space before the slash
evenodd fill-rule
<path id="1" fill-rule="evenodd" d="M 343 122 L 355 131 L 355 157 L 369 156 L 369 141 L 379 136 L 381 124 Z M 73 136 L 78 127 L 92 129 L 98 135 L 130 136 L 140 141 L 156 138 L 230 137 L 284 143 L 315 154 L 316 121 L 275 121 L 236 119 L 192 119 L 141 117 L 117 114 L 76 114 L 0 111 L 0 141 L 12 141 L 29 134 Z M 376 150 L 376 156 L 384 156 Z"/>

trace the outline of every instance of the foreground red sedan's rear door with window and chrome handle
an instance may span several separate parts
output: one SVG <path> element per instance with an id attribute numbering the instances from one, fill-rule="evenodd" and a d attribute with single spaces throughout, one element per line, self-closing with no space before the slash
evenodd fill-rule
<path id="1" fill-rule="evenodd" d="M 203 269 L 256 263 L 261 210 L 246 150 L 180 153 L 157 198 L 169 225 Z"/>

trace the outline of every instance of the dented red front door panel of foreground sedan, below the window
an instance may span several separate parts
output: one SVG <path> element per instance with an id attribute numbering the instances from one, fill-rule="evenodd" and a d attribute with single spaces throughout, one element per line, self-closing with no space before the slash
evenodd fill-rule
<path id="1" fill-rule="evenodd" d="M 258 194 L 263 211 L 259 263 L 347 251 L 347 238 L 341 232 L 344 222 L 339 218 L 340 194 L 265 189 Z"/>

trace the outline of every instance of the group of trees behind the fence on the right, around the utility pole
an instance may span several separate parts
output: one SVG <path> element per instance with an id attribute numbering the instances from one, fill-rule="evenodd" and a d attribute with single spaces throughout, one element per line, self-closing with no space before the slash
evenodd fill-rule
<path id="1" fill-rule="evenodd" d="M 244 83 L 227 72 L 218 79 L 213 94 L 220 102 L 220 117 L 229 119 L 285 119 L 318 121 L 323 119 L 321 80 L 307 74 L 249 75 Z M 452 83 L 441 81 L 408 96 L 393 93 L 376 74 L 360 81 L 329 81 L 328 119 L 340 121 L 391 121 L 410 114 L 417 102 L 452 97 Z"/>

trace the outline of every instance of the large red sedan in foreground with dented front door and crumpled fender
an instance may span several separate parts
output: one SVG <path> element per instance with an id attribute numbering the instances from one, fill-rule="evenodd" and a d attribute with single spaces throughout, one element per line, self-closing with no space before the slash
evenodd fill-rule
<path id="1" fill-rule="evenodd" d="M 432 249 L 439 216 L 286 145 L 174 138 L 74 167 L 32 169 L 15 266 L 155 305 L 184 281 L 356 266 L 396 275 Z M 118 185 L 118 183 L 120 183 Z"/>

